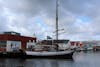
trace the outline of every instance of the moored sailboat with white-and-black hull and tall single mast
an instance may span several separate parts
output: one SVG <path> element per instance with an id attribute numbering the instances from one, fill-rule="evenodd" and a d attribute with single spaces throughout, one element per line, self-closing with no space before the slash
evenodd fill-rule
<path id="1" fill-rule="evenodd" d="M 58 41 L 59 43 L 56 42 L 56 44 L 61 44 L 58 39 L 58 0 L 56 0 L 56 39 L 55 40 L 47 40 L 47 41 Z M 70 41 L 68 40 L 66 45 Z M 62 42 L 64 43 L 64 41 Z M 35 43 L 34 43 L 35 44 Z M 52 44 L 53 45 L 53 44 Z M 32 45 L 31 45 L 32 46 Z M 34 45 L 33 45 L 34 46 Z M 59 45 L 58 45 L 59 47 Z M 57 47 L 57 48 L 58 48 Z M 38 46 L 38 51 L 25 51 L 27 58 L 58 58 L 58 59 L 72 59 L 73 58 L 73 50 L 70 49 L 62 49 L 62 50 L 56 50 L 56 51 L 45 51 L 45 50 L 40 50 Z"/>

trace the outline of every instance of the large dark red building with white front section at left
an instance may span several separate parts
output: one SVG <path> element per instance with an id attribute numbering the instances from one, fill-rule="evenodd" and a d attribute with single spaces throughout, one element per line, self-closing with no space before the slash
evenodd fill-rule
<path id="1" fill-rule="evenodd" d="M 29 41 L 36 42 L 36 38 L 21 36 L 20 33 L 16 32 L 4 32 L 0 34 L 0 51 L 25 50 Z"/>

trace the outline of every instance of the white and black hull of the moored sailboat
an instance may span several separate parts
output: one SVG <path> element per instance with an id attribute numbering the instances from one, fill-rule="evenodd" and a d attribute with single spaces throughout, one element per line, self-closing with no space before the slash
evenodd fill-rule
<path id="1" fill-rule="evenodd" d="M 73 53 L 74 51 L 58 51 L 58 52 L 26 51 L 27 58 L 73 59 Z"/>

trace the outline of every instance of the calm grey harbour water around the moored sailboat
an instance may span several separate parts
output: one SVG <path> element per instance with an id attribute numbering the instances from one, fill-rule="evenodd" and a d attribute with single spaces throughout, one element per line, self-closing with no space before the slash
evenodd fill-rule
<path id="1" fill-rule="evenodd" d="M 99 67 L 100 52 L 74 53 L 67 59 L 0 59 L 0 67 Z"/>

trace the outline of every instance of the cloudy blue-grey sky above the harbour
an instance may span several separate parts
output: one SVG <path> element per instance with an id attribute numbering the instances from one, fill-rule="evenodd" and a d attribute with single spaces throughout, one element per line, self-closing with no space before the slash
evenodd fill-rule
<path id="1" fill-rule="evenodd" d="M 100 0 L 59 0 L 59 39 L 100 40 Z M 56 0 L 0 0 L 0 32 L 55 38 Z"/>

